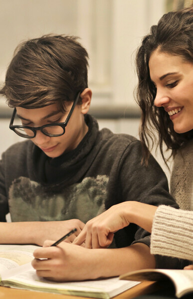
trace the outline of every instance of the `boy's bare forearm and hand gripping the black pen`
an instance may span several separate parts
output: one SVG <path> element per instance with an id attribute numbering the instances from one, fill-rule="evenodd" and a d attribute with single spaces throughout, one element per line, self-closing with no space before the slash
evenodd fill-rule
<path id="1" fill-rule="evenodd" d="M 46 241 L 43 247 L 37 248 L 31 262 L 37 276 L 52 281 L 113 277 L 156 266 L 149 246 L 143 243 L 117 249 L 88 249 L 66 242 L 50 246 L 54 242 Z"/>

